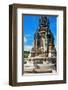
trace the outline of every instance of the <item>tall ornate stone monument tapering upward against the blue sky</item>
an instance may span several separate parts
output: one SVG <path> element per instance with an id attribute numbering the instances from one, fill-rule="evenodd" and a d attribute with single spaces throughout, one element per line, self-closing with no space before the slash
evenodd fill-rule
<path id="1" fill-rule="evenodd" d="M 34 47 L 31 50 L 32 57 L 38 55 L 44 55 L 46 57 L 56 56 L 54 36 L 49 25 L 47 16 L 41 16 L 39 19 L 39 27 L 34 34 Z"/>

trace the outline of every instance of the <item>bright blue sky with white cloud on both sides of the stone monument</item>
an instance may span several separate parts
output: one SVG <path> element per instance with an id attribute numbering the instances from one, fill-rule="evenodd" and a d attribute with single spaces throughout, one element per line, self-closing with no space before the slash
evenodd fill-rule
<path id="1" fill-rule="evenodd" d="M 23 29 L 24 29 L 24 48 L 31 49 L 34 41 L 34 33 L 38 29 L 40 16 L 24 15 Z M 48 16 L 50 22 L 50 30 L 54 35 L 54 42 L 56 45 L 57 34 L 57 16 Z"/>

